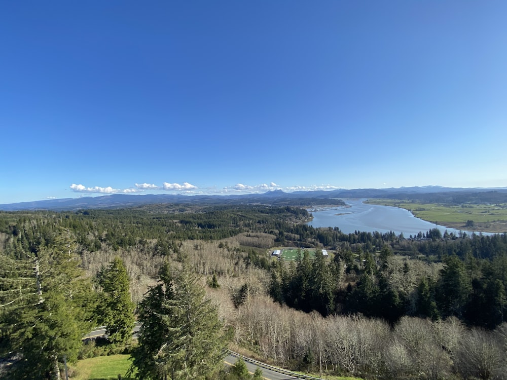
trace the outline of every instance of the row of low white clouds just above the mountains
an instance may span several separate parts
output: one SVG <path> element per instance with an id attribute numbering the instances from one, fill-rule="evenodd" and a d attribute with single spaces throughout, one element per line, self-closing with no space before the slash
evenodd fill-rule
<path id="1" fill-rule="evenodd" d="M 311 185 L 311 186 L 286 186 L 282 187 L 277 185 L 275 182 L 269 184 L 261 183 L 258 185 L 247 185 L 243 183 L 236 183 L 234 186 L 225 186 L 223 188 L 216 187 L 204 187 L 200 188 L 189 182 L 180 183 L 169 183 L 163 182 L 161 186 L 154 183 L 135 183 L 134 187 L 127 188 L 114 188 L 112 186 L 91 186 L 87 187 L 83 184 L 73 183 L 69 188 L 75 193 L 84 194 L 134 194 L 144 193 L 147 191 L 152 192 L 173 192 L 186 195 L 198 195 L 198 194 L 256 194 L 265 193 L 269 191 L 282 190 L 287 193 L 296 191 L 315 191 L 315 190 L 336 190 L 343 187 L 334 186 L 330 184 L 322 185 Z"/>

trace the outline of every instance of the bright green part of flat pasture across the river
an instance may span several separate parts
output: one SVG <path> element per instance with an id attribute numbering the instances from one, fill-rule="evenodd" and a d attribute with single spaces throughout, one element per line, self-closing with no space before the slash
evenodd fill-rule
<path id="1" fill-rule="evenodd" d="M 430 222 L 466 223 L 467 220 L 473 220 L 476 223 L 488 223 L 507 220 L 507 205 L 504 204 L 451 206 L 390 199 L 370 199 L 368 203 L 401 207 Z"/>

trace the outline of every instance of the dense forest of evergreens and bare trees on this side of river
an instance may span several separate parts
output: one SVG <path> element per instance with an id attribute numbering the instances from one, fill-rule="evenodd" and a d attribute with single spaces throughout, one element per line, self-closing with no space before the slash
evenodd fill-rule
<path id="1" fill-rule="evenodd" d="M 507 234 L 343 234 L 315 229 L 306 224 L 310 218 L 300 207 L 266 205 L 0 212 L 6 376 L 56 378 L 64 354 L 73 363 L 127 350 L 134 364 L 151 363 L 143 369 L 153 376 L 147 378 L 198 378 L 204 369 L 197 364 L 174 364 L 175 348 L 157 361 L 163 334 L 129 348 L 135 318 L 172 331 L 157 316 L 180 323 L 176 306 L 192 306 L 185 294 L 200 300 L 195 310 L 216 313 L 201 330 L 217 336 L 218 346 L 196 349 L 214 353 L 213 360 L 228 344 L 314 373 L 505 376 Z M 317 251 L 312 257 L 299 249 L 295 261 L 283 261 L 270 257 L 274 246 Z M 82 334 L 102 323 L 108 344 L 83 344 Z M 237 378 L 216 365 L 206 370 Z"/>

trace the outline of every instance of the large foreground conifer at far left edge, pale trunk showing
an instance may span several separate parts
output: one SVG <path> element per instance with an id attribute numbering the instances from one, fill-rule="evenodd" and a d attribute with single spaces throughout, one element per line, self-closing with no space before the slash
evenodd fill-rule
<path id="1" fill-rule="evenodd" d="M 15 379 L 60 378 L 64 358 L 77 360 L 81 338 L 91 328 L 91 286 L 73 245 L 67 236 L 41 244 L 14 260 L 11 278 L 22 280 L 24 290 L 2 305 L 3 334 L 19 357 L 8 374 Z"/>

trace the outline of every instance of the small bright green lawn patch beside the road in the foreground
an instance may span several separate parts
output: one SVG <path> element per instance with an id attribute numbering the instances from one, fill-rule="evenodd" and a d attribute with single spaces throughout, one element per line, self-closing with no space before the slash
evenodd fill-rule
<path id="1" fill-rule="evenodd" d="M 130 355 L 111 355 L 98 356 L 96 358 L 79 360 L 74 367 L 75 380 L 104 380 L 118 379 L 118 374 L 122 377 L 127 373 L 130 367 Z"/>

